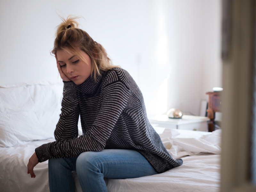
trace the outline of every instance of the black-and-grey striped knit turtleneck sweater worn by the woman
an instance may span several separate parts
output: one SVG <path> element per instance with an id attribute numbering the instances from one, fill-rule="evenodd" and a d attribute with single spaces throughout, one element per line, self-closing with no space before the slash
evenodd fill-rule
<path id="1" fill-rule="evenodd" d="M 85 151 L 133 149 L 162 173 L 182 165 L 172 159 L 148 121 L 142 93 L 122 68 L 102 71 L 80 85 L 64 82 L 61 114 L 54 132 L 56 141 L 36 148 L 39 162 L 70 158 Z M 83 135 L 78 136 L 78 118 Z"/>

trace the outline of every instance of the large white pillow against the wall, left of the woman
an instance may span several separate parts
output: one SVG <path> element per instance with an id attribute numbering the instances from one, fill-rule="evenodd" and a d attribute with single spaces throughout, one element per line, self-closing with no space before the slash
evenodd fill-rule
<path id="1" fill-rule="evenodd" d="M 61 83 L 0 85 L 0 147 L 54 137 L 62 92 Z"/>

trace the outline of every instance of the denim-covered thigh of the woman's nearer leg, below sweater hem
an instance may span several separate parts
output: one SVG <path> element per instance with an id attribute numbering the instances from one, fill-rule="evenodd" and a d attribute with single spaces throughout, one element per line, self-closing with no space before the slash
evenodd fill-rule
<path id="1" fill-rule="evenodd" d="M 157 174 L 147 159 L 135 150 L 104 149 L 101 152 L 84 152 L 78 158 L 94 164 L 104 177 L 110 179 L 138 178 Z"/>

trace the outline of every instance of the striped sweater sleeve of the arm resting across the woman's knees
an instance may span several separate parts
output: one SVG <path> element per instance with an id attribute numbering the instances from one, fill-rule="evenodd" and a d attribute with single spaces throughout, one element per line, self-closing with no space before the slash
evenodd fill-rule
<path id="1" fill-rule="evenodd" d="M 122 111 L 130 90 L 121 81 L 108 84 L 101 92 L 101 107 L 92 128 L 78 138 L 62 139 L 36 148 L 39 162 L 49 158 L 70 158 L 85 151 L 102 151 Z"/>

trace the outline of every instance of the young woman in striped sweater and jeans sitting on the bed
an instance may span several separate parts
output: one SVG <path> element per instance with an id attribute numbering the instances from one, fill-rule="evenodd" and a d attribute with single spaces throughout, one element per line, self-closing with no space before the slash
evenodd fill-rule
<path id="1" fill-rule="evenodd" d="M 83 191 L 100 192 L 107 191 L 104 177 L 137 178 L 180 166 L 150 125 L 135 81 L 76 19 L 63 19 L 52 50 L 64 83 L 56 141 L 36 148 L 28 173 L 35 178 L 34 166 L 49 159 L 51 192 L 74 191 L 72 171 Z M 77 137 L 79 115 L 83 135 Z"/>

